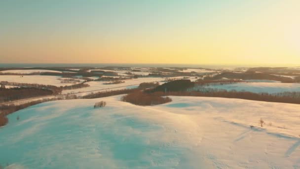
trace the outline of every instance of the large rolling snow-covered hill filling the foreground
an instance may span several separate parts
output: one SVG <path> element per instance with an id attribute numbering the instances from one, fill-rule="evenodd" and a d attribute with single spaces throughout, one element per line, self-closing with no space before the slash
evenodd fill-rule
<path id="1" fill-rule="evenodd" d="M 300 168 L 300 105 L 174 96 L 170 103 L 143 107 L 119 98 L 52 101 L 9 115 L 8 125 L 0 128 L 0 164 L 25 169 Z M 107 106 L 94 109 L 101 100 Z M 264 127 L 259 127 L 261 118 Z"/>

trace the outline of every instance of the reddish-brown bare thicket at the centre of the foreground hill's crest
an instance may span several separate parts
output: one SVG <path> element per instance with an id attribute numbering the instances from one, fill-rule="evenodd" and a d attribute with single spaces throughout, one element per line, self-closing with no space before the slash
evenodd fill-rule
<path id="1" fill-rule="evenodd" d="M 121 98 L 122 101 L 129 102 L 141 106 L 150 106 L 171 102 L 169 97 L 162 97 L 163 92 L 145 93 L 142 91 L 135 91 L 129 93 Z"/>

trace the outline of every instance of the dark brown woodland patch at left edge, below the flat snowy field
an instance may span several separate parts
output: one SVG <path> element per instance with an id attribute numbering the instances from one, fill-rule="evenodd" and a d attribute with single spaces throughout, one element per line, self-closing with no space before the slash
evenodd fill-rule
<path id="1" fill-rule="evenodd" d="M 34 87 L 0 88 L 0 103 L 52 94 L 52 90 Z"/>

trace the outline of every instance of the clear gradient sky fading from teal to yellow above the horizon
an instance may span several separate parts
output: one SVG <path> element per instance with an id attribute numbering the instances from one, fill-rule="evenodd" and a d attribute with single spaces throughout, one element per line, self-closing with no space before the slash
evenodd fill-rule
<path id="1" fill-rule="evenodd" d="M 300 0 L 0 0 L 0 63 L 300 64 Z"/>

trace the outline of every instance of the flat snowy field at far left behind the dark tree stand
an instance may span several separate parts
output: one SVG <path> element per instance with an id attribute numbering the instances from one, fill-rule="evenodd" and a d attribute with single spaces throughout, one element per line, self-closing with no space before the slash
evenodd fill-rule
<path id="1" fill-rule="evenodd" d="M 26 83 L 26 84 L 44 84 L 44 85 L 55 85 L 55 86 L 65 86 L 72 84 L 62 84 L 61 81 L 58 80 L 61 78 L 60 76 L 43 76 L 43 75 L 27 75 L 20 77 L 19 75 L 1 75 L 1 81 L 7 82 L 16 82 L 16 83 Z M 68 78 L 61 78 L 68 79 Z M 81 80 L 83 81 L 83 80 Z"/>

